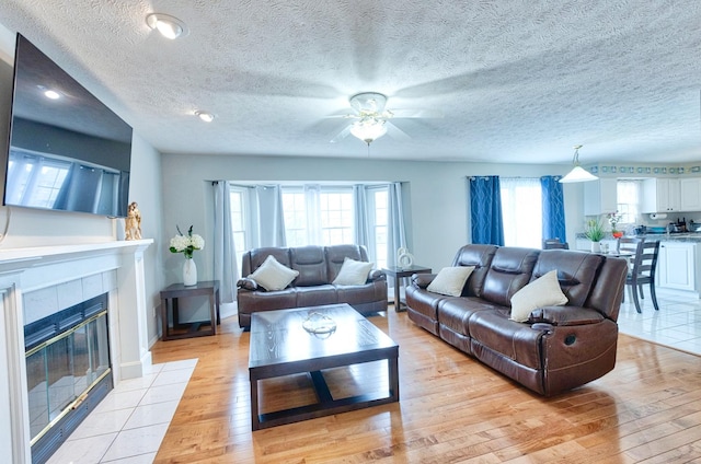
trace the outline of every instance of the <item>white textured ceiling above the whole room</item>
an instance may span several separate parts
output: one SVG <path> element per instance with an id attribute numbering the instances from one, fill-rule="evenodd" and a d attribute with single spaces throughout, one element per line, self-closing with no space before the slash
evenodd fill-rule
<path id="1" fill-rule="evenodd" d="M 374 158 L 701 160 L 698 0 L 4 0 L 0 24 L 163 152 L 367 156 L 329 141 L 371 91 L 444 116 L 394 118 L 411 139 Z"/>

